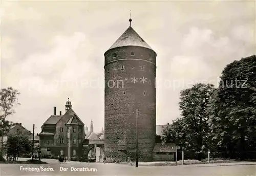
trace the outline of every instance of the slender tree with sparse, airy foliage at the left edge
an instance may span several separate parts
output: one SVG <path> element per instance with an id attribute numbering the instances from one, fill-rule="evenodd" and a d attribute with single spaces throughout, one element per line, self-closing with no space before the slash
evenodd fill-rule
<path id="1" fill-rule="evenodd" d="M 15 113 L 13 107 L 15 104 L 20 104 L 17 99 L 19 94 L 12 87 L 0 91 L 0 137 L 6 136 L 12 125 L 12 122 L 6 120 L 6 117 Z M 3 138 L 1 138 L 1 144 L 3 145 Z"/>

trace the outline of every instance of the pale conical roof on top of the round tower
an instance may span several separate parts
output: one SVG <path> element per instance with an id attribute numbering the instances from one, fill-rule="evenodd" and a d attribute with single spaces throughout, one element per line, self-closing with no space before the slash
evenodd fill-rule
<path id="1" fill-rule="evenodd" d="M 115 41 L 110 49 L 125 46 L 144 47 L 152 50 L 131 26 Z"/>

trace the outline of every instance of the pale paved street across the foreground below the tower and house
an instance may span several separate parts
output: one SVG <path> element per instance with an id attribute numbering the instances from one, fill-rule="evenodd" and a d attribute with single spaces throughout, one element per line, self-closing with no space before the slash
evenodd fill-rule
<path id="1" fill-rule="evenodd" d="M 32 165 L 32 164 L 0 164 L 0 175 L 186 175 L 186 176 L 256 176 L 256 163 L 228 163 L 228 166 L 217 166 L 224 164 L 201 164 L 186 166 L 162 166 L 150 167 L 139 166 L 138 168 L 122 164 L 103 164 L 103 163 L 80 163 L 68 162 L 59 164 L 55 160 L 43 160 L 51 164 Z M 21 171 L 23 168 L 52 168 L 53 171 Z M 60 167 L 68 168 L 67 171 L 60 171 Z M 91 171 L 71 171 L 70 169 L 92 168 Z"/>

